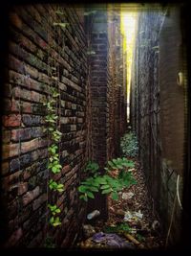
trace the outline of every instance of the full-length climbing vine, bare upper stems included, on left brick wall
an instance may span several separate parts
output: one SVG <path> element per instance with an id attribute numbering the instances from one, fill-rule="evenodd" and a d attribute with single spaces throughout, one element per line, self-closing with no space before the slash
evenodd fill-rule
<path id="1" fill-rule="evenodd" d="M 52 16 L 51 16 L 52 17 Z M 52 57 L 52 49 L 56 47 L 55 36 L 59 40 L 60 37 L 60 23 L 55 22 L 56 15 L 53 12 L 53 18 L 50 18 L 50 24 L 48 29 L 48 75 L 51 78 L 49 83 L 49 91 L 47 102 L 44 103 L 46 107 L 45 116 L 45 128 L 44 132 L 47 133 L 49 140 L 48 147 L 48 169 L 50 170 L 49 181 L 48 181 L 48 208 L 50 210 L 51 218 L 50 223 L 53 226 L 61 224 L 59 215 L 61 210 L 56 204 L 56 194 L 61 194 L 64 191 L 64 185 L 57 181 L 57 175 L 61 172 L 62 166 L 60 164 L 59 157 L 59 142 L 62 133 L 59 130 L 59 119 L 60 119 L 60 91 L 59 91 L 59 64 L 55 58 Z M 59 49 L 55 49 L 56 52 Z M 59 106 L 59 107 L 58 107 Z"/>

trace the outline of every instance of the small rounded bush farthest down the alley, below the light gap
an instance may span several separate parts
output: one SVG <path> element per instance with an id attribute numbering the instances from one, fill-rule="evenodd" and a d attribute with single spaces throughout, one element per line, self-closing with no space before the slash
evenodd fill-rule
<path id="1" fill-rule="evenodd" d="M 138 140 L 134 132 L 126 133 L 120 141 L 123 156 L 135 157 L 138 155 Z"/>

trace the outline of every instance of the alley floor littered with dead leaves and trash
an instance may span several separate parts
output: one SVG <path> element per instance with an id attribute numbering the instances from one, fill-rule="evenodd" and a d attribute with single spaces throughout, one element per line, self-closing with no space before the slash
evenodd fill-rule
<path id="1" fill-rule="evenodd" d="M 137 184 L 118 193 L 118 200 L 108 197 L 109 219 L 83 225 L 78 239 L 80 248 L 160 249 L 164 242 L 160 223 L 153 208 L 145 176 L 138 160 L 132 173 Z M 113 172 L 113 176 L 117 171 Z M 98 219 L 98 218 L 97 218 Z"/>

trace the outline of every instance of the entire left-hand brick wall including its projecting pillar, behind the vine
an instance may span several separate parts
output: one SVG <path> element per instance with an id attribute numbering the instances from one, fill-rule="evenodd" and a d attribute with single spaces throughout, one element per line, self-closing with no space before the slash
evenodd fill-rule
<path id="1" fill-rule="evenodd" d="M 120 41 L 108 38 L 107 12 L 101 10 L 96 12 L 90 45 L 89 16 L 82 7 L 11 8 L 2 119 L 1 221 L 6 246 L 44 246 L 47 236 L 58 247 L 72 246 L 87 210 L 77 193 L 84 164 L 93 158 L 103 168 L 118 153 L 117 139 L 125 127 L 122 66 L 118 73 L 123 59 Z M 119 19 L 112 36 L 120 37 Z M 93 56 L 88 45 L 96 52 Z M 62 132 L 62 171 L 56 179 L 65 185 L 54 197 L 62 210 L 62 225 L 55 229 L 48 225 L 50 172 L 43 132 L 43 103 L 52 82 L 60 92 L 57 127 Z M 96 201 L 106 219 L 106 197 L 97 199 L 90 200 L 88 209 Z"/>

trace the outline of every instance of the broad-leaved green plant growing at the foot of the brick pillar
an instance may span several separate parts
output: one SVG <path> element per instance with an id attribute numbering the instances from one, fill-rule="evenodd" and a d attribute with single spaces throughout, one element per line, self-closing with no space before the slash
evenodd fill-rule
<path id="1" fill-rule="evenodd" d="M 95 198 L 94 193 L 100 191 L 103 195 L 111 194 L 114 200 L 118 199 L 118 191 L 123 188 L 128 188 L 132 184 L 136 184 L 136 180 L 133 177 L 130 168 L 133 168 L 134 162 L 126 158 L 117 158 L 108 161 L 106 175 L 100 175 L 97 170 L 98 165 L 95 162 L 88 162 L 85 172 L 89 172 L 93 176 L 87 177 L 83 180 L 78 187 L 78 191 L 81 194 L 79 198 L 88 201 L 88 198 Z M 117 177 L 110 175 L 112 170 L 118 170 Z"/>

